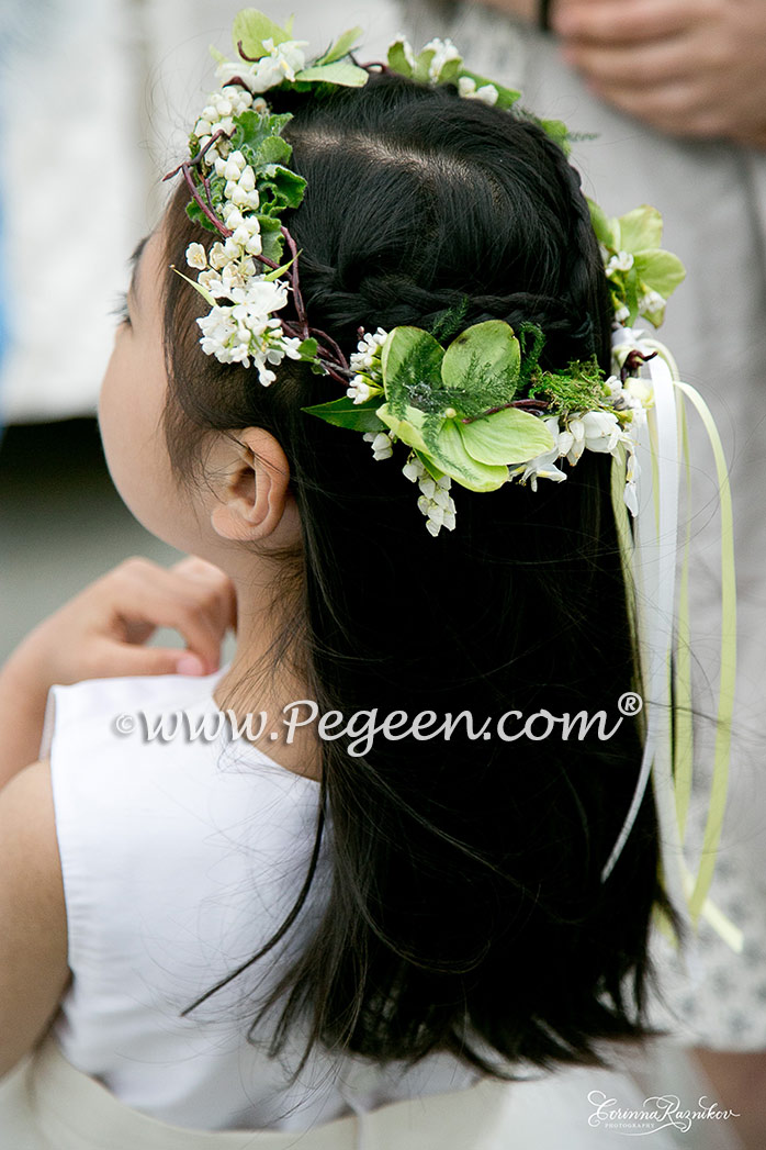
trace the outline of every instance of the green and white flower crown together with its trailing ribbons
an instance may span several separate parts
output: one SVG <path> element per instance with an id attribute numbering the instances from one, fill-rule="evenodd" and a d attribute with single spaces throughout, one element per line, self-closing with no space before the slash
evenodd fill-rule
<path id="1" fill-rule="evenodd" d="M 342 348 L 326 332 L 312 328 L 305 314 L 299 252 L 281 223 L 286 210 L 300 206 L 305 181 L 289 167 L 292 148 L 283 132 L 291 116 L 274 115 L 262 93 L 314 91 L 320 99 L 335 86 L 362 87 L 373 71 L 384 69 L 420 83 L 452 84 L 466 99 L 519 114 L 519 93 L 465 69 L 450 40 L 432 40 L 416 55 L 408 41 L 399 38 L 385 64 L 363 68 L 350 55 L 359 34 L 356 28 L 345 32 L 307 66 L 307 45 L 292 38 L 292 22 L 283 29 L 248 8 L 234 20 L 237 60 L 230 62 L 216 53 L 222 87 L 210 95 L 196 121 L 189 159 L 165 177 L 183 172 L 191 194 L 189 216 L 217 233 L 209 247 L 193 243 L 186 253 L 198 276 L 184 278 L 210 306 L 209 314 L 196 321 L 202 350 L 222 363 L 253 366 L 264 386 L 274 382 L 273 369 L 286 358 L 335 379 L 343 388 L 342 396 L 302 409 L 362 432 L 376 459 L 388 459 L 395 443 L 405 444 L 409 453 L 403 473 L 419 486 L 418 506 L 434 536 L 442 527 L 455 527 L 449 493 L 452 482 L 472 491 L 492 491 L 517 480 L 536 490 L 539 478 L 566 480 L 559 465 L 575 465 L 586 450 L 614 457 L 616 474 L 620 482 L 624 478 L 625 504 L 635 515 L 637 440 L 647 413 L 653 408 L 648 437 L 652 481 L 651 499 L 644 504 L 648 513 L 639 515 L 635 532 L 627 528 L 625 516 L 618 516 L 626 569 L 641 588 L 635 611 L 649 692 L 645 738 L 635 792 L 602 881 L 620 857 L 651 777 L 663 838 L 672 844 L 663 864 L 672 900 L 676 907 L 687 903 L 693 922 L 705 915 L 734 949 L 741 948 L 741 931 L 706 900 L 724 818 L 734 698 L 736 608 L 726 466 L 702 397 L 674 376 L 667 348 L 645 332 L 629 330 L 639 316 L 655 328 L 663 322 L 665 302 L 684 277 L 683 266 L 660 248 L 663 221 L 655 208 L 644 205 L 619 218 L 608 218 L 597 205 L 589 204 L 614 309 L 614 374 L 609 378 L 593 359 L 572 361 L 562 370 L 543 370 L 544 330 L 521 323 L 513 331 L 500 320 L 475 324 L 447 342 L 413 327 L 361 330 L 358 347 L 347 360 Z M 567 150 L 564 124 L 520 114 L 535 120 Z M 278 313 L 291 297 L 294 319 L 280 319 Z M 451 330 L 458 330 L 459 309 L 448 320 Z M 622 324 L 628 324 L 628 330 Z M 447 324 L 441 330 L 447 330 Z M 648 365 L 648 381 L 637 378 L 643 363 Z M 686 865 L 682 846 L 693 743 L 690 723 L 683 719 L 691 714 L 688 660 L 682 656 L 688 627 L 683 596 L 679 598 L 675 637 L 672 629 L 684 398 L 702 416 L 713 450 L 724 588 L 713 789 L 696 877 Z M 688 475 L 688 458 L 686 471 Z M 671 666 L 676 667 L 673 692 Z M 676 699 L 681 706 L 671 733 L 670 715 Z"/>

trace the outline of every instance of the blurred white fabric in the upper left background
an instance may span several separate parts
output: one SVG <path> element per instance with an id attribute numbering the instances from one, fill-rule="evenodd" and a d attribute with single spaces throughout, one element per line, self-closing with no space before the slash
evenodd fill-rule
<path id="1" fill-rule="evenodd" d="M 2 198 L 8 348 L 0 422 L 95 411 L 126 260 L 156 223 L 162 175 L 230 53 L 237 0 L 2 0 Z M 389 0 L 272 0 L 318 54 L 359 24 L 373 59 L 397 31 Z M 11 20 L 13 16 L 13 20 Z"/>

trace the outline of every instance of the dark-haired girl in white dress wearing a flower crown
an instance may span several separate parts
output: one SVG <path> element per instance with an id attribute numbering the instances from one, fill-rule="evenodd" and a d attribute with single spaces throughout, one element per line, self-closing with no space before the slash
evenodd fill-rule
<path id="1" fill-rule="evenodd" d="M 505 1079 L 644 1034 L 650 915 L 671 908 L 650 790 L 603 877 L 642 761 L 641 727 L 617 721 L 639 681 L 605 401 L 579 458 L 574 420 L 540 431 L 546 379 L 606 393 L 613 308 L 579 178 L 542 126 L 463 99 L 475 82 L 372 69 L 308 90 L 283 39 L 262 46 L 284 66 L 269 108 L 246 43 L 223 126 L 198 122 L 102 390 L 121 494 L 200 558 L 123 565 L 0 681 L 0 1072 L 37 1050 L 8 1095 L 14 1148 L 281 1148 L 309 1129 L 307 1150 L 350 1147 L 354 1111 L 376 1145 L 505 1145 Z M 272 110 L 292 120 L 270 135 Z M 240 128 L 292 147 L 263 153 L 260 191 Z M 269 233 L 283 194 L 287 232 Z M 249 258 L 268 235 L 281 267 Z M 288 285 L 256 334 L 255 277 Z M 444 386 L 448 356 L 462 365 L 438 439 L 426 334 Z M 458 420 L 490 369 L 524 389 Z M 346 425 L 305 411 L 349 384 Z M 535 458 L 481 438 L 498 409 L 492 427 L 532 436 Z M 441 482 L 452 434 L 473 488 L 457 463 Z M 503 451 L 531 482 L 478 489 Z M 187 651 L 144 647 L 156 626 Z M 73 685 L 54 688 L 34 761 L 54 683 Z M 220 712 L 264 713 L 263 731 L 200 735 Z M 371 712 L 382 729 L 359 747 Z M 609 737 L 562 736 L 598 712 Z M 169 716 L 176 737 L 157 736 Z"/>

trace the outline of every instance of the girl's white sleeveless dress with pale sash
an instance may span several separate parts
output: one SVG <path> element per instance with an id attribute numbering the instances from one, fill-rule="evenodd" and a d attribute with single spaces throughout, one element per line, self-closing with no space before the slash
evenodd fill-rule
<path id="1" fill-rule="evenodd" d="M 647 1090 L 626 1073 L 575 1068 L 506 1086 L 448 1055 L 404 1072 L 315 1053 L 291 1087 L 300 1034 L 279 1059 L 245 1034 L 322 910 L 324 856 L 294 937 L 181 1017 L 281 922 L 304 876 L 318 807 L 312 780 L 232 741 L 225 727 L 210 737 L 219 674 L 52 690 L 42 754 L 73 979 L 48 1040 L 0 1082 L 0 1148 L 614 1145 L 614 1130 L 593 1122 L 594 1098 L 640 1107 Z M 147 739 L 145 722 L 160 716 L 171 727 L 179 716 L 184 735 Z M 208 737 L 191 739 L 203 723 Z M 656 1150 L 675 1144 L 665 1130 L 652 1137 Z"/>

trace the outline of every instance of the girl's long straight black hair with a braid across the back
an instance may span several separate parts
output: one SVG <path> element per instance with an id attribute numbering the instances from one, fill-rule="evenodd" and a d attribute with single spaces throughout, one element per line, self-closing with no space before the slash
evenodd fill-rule
<path id="1" fill-rule="evenodd" d="M 392 76 L 279 100 L 308 181 L 286 222 L 312 327 L 348 354 L 361 327 L 433 328 L 467 298 L 463 328 L 532 321 L 544 365 L 595 354 L 609 368 L 606 282 L 579 177 L 537 126 Z M 186 200 L 180 187 L 169 209 L 169 264 L 203 238 Z M 605 711 L 611 729 L 636 687 L 611 458 L 586 452 L 536 492 L 457 488 L 457 528 L 432 538 L 401 474 L 407 448 L 376 462 L 361 435 L 301 412 L 342 393 L 302 365 L 264 389 L 254 370 L 203 355 L 203 310 L 169 273 L 171 458 L 192 475 L 211 429 L 257 425 L 283 445 L 302 550 L 280 568 L 272 653 L 300 667 L 320 712 L 467 711 L 479 728 L 509 711 Z M 604 741 L 593 727 L 582 741 L 473 741 L 461 724 L 450 739 L 377 738 L 363 758 L 325 742 L 311 874 L 280 935 L 232 974 L 245 977 L 309 904 L 316 921 L 250 1035 L 278 1009 L 272 1053 L 301 1021 L 307 1055 L 316 1043 L 380 1063 L 451 1051 L 501 1076 L 525 1061 L 598 1061 L 599 1040 L 641 1037 L 650 917 L 667 910 L 651 795 L 601 882 L 641 749 L 630 720 Z M 315 873 L 320 851 L 327 868 Z"/>

